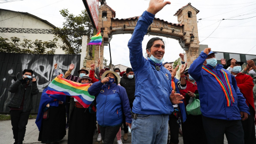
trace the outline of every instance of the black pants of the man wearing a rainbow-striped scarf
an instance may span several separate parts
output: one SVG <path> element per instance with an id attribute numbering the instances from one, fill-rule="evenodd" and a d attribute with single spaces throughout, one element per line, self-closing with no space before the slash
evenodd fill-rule
<path id="1" fill-rule="evenodd" d="M 241 120 L 227 121 L 202 116 L 208 144 L 223 144 L 226 134 L 228 144 L 244 144 L 244 131 Z"/>

